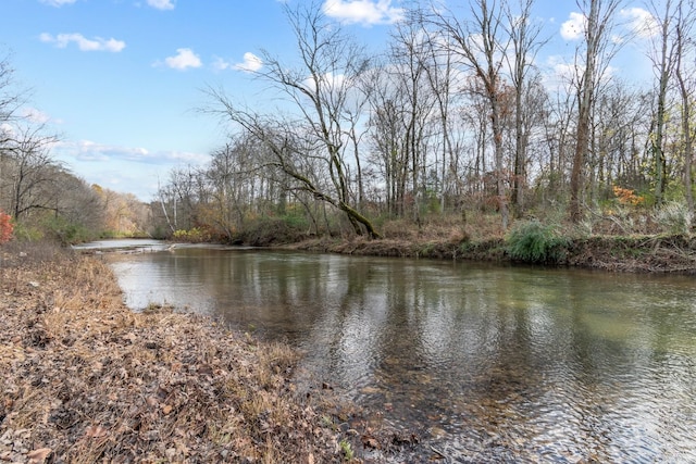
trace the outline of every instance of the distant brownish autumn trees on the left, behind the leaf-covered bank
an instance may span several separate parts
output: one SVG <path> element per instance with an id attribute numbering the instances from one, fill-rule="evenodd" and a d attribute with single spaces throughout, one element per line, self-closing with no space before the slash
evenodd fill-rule
<path id="1" fill-rule="evenodd" d="M 0 59 L 0 242 L 12 231 L 65 243 L 148 234 L 149 206 L 133 195 L 89 185 L 58 161 L 52 149 L 59 137 L 26 112 L 27 101 L 9 58 Z"/>

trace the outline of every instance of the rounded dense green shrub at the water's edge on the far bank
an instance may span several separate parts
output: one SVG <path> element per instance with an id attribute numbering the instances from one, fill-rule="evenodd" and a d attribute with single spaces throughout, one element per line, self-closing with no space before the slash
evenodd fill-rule
<path id="1" fill-rule="evenodd" d="M 564 255 L 568 239 L 560 236 L 554 225 L 538 221 L 515 224 L 506 238 L 506 251 L 515 261 L 536 264 L 556 264 Z"/>

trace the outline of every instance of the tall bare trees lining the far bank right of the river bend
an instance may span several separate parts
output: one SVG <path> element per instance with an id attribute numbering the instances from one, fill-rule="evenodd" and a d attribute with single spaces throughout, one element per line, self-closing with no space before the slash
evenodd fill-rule
<path id="1" fill-rule="evenodd" d="M 576 2 L 582 35 L 554 88 L 538 65 L 549 38 L 534 0 L 413 8 L 380 53 L 319 3 L 286 3 L 296 53 L 263 51 L 253 72 L 284 105 L 241 105 L 208 88 L 202 112 L 229 139 L 208 166 L 171 174 L 161 211 L 172 230 L 225 237 L 289 209 L 312 233 L 378 237 L 375 218 L 420 225 L 471 210 L 496 212 L 502 230 L 548 206 L 579 223 L 627 191 L 644 208 L 680 202 L 691 218 L 694 2 L 650 1 L 642 25 L 620 24 L 626 5 Z M 650 85 L 612 73 L 638 40 Z"/>

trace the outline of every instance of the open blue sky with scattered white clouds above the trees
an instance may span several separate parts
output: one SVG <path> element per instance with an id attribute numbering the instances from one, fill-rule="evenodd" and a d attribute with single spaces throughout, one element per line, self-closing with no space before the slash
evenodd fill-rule
<path id="1" fill-rule="evenodd" d="M 296 1 L 309 0 L 285 0 Z M 405 7 L 314 1 L 373 50 Z M 59 136 L 52 155 L 87 183 L 142 201 L 173 168 L 204 165 L 224 143 L 220 121 L 197 111 L 211 103 L 206 88 L 261 101 L 250 73 L 263 65 L 260 51 L 295 50 L 281 0 L 2 0 L 0 15 L 0 58 L 30 89 L 24 114 Z M 537 0 L 535 15 L 549 39 L 537 60 L 562 73 L 582 33 L 576 3 Z M 627 2 L 622 17 L 645 21 L 645 10 Z M 617 72 L 649 76 L 637 48 L 618 62 Z"/>

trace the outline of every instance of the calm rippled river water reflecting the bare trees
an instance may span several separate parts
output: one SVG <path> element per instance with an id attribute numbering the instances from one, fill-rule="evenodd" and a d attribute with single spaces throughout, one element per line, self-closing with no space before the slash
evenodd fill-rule
<path id="1" fill-rule="evenodd" d="M 449 462 L 696 462 L 693 277 L 215 247 L 110 261 L 129 306 L 287 340 Z"/>

